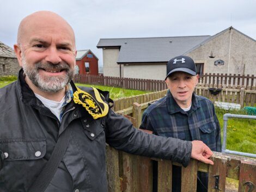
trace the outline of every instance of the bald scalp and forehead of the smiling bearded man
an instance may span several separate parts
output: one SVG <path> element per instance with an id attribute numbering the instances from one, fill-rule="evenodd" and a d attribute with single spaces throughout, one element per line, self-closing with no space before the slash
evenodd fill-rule
<path id="1" fill-rule="evenodd" d="M 56 31 L 56 26 L 58 30 Z M 34 34 L 35 30 L 41 30 L 42 32 L 52 32 L 52 33 L 66 33 L 70 36 L 70 39 L 75 45 L 75 34 L 72 27 L 69 25 L 64 18 L 60 17 L 51 11 L 38 11 L 31 15 L 23 18 L 19 25 L 17 34 L 17 43 L 22 44 L 26 41 L 26 37 L 30 34 Z M 56 35 L 57 35 L 56 34 Z"/>

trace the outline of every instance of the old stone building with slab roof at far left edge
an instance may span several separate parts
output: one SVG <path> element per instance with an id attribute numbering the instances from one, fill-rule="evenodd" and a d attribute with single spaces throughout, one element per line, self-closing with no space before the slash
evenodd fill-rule
<path id="1" fill-rule="evenodd" d="M 0 76 L 17 75 L 19 70 L 14 50 L 0 41 Z"/>

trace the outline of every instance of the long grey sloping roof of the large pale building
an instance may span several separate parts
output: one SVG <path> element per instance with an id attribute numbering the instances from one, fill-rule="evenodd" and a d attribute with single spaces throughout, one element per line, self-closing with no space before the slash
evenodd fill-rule
<path id="1" fill-rule="evenodd" d="M 207 36 L 100 39 L 97 48 L 120 47 L 118 63 L 167 62 L 209 39 Z"/>

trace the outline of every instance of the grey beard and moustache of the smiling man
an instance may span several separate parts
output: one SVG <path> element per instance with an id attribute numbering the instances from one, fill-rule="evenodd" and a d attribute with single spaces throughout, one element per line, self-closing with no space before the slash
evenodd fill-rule
<path id="1" fill-rule="evenodd" d="M 34 65 L 27 65 L 25 57 L 22 56 L 22 68 L 27 77 L 32 81 L 32 83 L 44 92 L 56 93 L 63 89 L 73 78 L 74 71 L 70 69 L 66 62 L 59 64 L 52 64 L 49 62 L 42 63 L 38 62 Z M 56 70 L 66 70 L 68 73 L 64 76 L 40 76 L 38 71 L 39 68 Z"/>

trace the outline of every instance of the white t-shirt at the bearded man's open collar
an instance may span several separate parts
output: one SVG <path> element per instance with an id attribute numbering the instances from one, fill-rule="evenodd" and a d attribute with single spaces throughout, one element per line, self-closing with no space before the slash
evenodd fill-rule
<path id="1" fill-rule="evenodd" d="M 44 104 L 51 112 L 59 119 L 60 121 L 60 113 L 62 112 L 62 105 L 65 101 L 65 96 L 62 98 L 61 101 L 52 101 L 50 99 L 46 99 L 39 94 L 35 93 L 35 97 L 37 97 L 42 104 Z"/>

